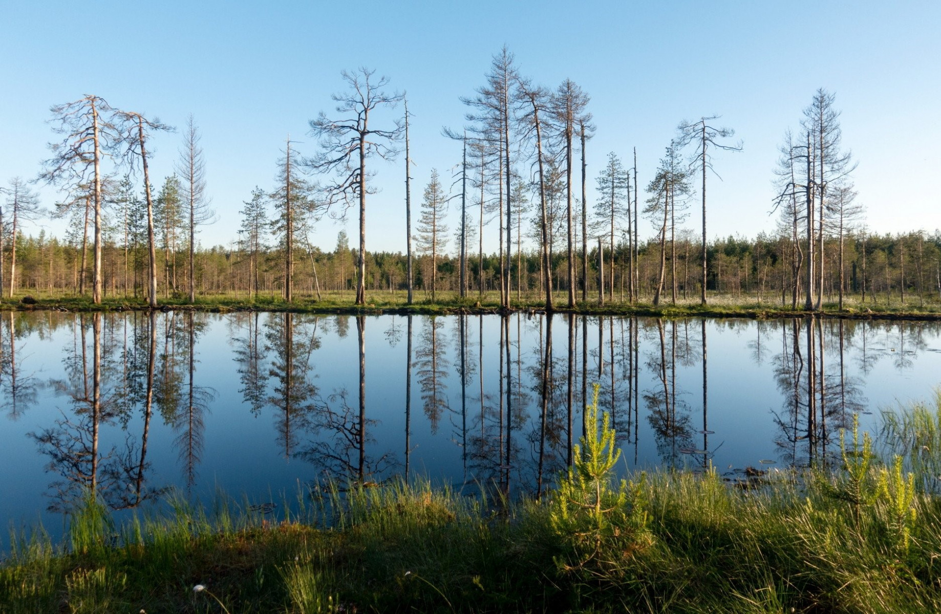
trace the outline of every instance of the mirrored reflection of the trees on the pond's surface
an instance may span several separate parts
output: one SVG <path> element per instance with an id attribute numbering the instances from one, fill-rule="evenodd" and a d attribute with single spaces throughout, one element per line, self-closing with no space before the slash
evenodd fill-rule
<path id="1" fill-rule="evenodd" d="M 716 360 L 707 351 L 709 328 L 753 336 L 749 357 L 773 369 L 780 399 L 772 417 L 777 460 L 825 464 L 838 454 L 840 429 L 866 410 L 869 373 L 880 364 L 912 370 L 941 329 L 924 322 L 522 313 L 387 317 L 385 327 L 374 326 L 375 320 L 292 313 L 225 317 L 242 406 L 251 417 L 270 414 L 264 445 L 287 462 L 302 461 L 298 466 L 312 469 L 314 480 L 409 475 L 430 436 L 455 450 L 462 475 L 454 480 L 504 493 L 541 493 L 572 463 L 586 428 L 583 407 L 596 384 L 598 406 L 611 413 L 629 462 L 637 464 L 648 433 L 662 464 L 708 466 L 716 443 L 737 434 L 710 431 L 709 368 L 723 368 L 724 357 Z M 218 374 L 204 367 L 200 343 L 215 322 L 215 316 L 188 311 L 3 314 L 0 412 L 20 420 L 40 394 L 64 401 L 51 424 L 30 433 L 55 476 L 53 509 L 67 510 L 84 489 L 115 509 L 141 505 L 167 485 L 152 479 L 154 454 L 169 452 L 182 470 L 179 479 L 163 480 L 186 489 L 202 481 L 207 420 L 218 412 L 211 378 Z M 63 333 L 62 374 L 40 381 L 40 363 L 30 351 L 34 339 L 61 339 Z M 401 367 L 397 359 L 367 362 L 367 333 L 403 356 Z M 323 368 L 338 362 L 344 377 L 321 379 Z M 375 373 L 375 383 L 367 372 Z M 396 392 L 395 401 L 385 397 L 391 406 L 371 405 L 384 398 L 378 386 L 390 383 L 402 386 L 405 399 Z M 390 437 L 380 417 L 387 423 L 403 419 L 404 441 L 399 435 L 377 441 L 380 432 Z M 418 423 L 426 423 L 427 431 L 418 431 Z M 155 425 L 171 435 L 158 440 L 169 449 L 154 451 Z"/>

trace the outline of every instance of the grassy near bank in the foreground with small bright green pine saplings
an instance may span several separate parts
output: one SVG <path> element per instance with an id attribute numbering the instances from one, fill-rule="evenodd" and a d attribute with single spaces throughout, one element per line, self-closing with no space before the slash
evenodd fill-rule
<path id="1" fill-rule="evenodd" d="M 896 414 L 898 462 L 847 433 L 831 469 L 746 482 L 618 482 L 601 428 L 537 499 L 397 482 L 311 493 L 296 515 L 178 501 L 113 527 L 89 498 L 67 547 L 18 541 L 0 611 L 938 611 L 941 505 L 912 451 L 937 437 L 935 404 Z"/>

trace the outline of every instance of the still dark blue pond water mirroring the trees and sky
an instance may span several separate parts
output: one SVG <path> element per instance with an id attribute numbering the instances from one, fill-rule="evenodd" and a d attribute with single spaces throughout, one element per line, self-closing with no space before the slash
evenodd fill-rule
<path id="1" fill-rule="evenodd" d="M 115 510 L 402 474 L 536 493 L 595 384 L 626 467 L 808 464 L 941 379 L 939 323 L 0 317 L 0 520 L 54 535 L 91 485 Z"/>

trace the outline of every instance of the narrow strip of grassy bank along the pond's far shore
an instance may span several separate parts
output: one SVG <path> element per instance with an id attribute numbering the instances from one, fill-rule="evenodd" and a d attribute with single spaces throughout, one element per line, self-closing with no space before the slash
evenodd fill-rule
<path id="1" fill-rule="evenodd" d="M 26 302 L 24 302 L 24 298 Z M 244 295 L 201 296 L 195 304 L 189 304 L 184 297 L 164 298 L 159 301 L 161 308 L 170 309 L 196 309 L 199 311 L 226 312 L 242 310 L 266 311 L 292 311 L 296 313 L 343 313 L 343 314 L 379 314 L 379 313 L 414 313 L 414 314 L 449 314 L 449 313 L 495 313 L 499 312 L 499 295 L 491 292 L 484 296 L 473 293 L 466 299 L 461 299 L 454 292 L 439 292 L 436 301 L 416 295 L 413 304 L 407 303 L 403 291 L 374 291 L 367 294 L 367 304 L 357 306 L 354 304 L 352 292 L 325 292 L 320 299 L 311 296 L 301 297 L 293 303 L 286 303 L 277 296 L 260 295 L 247 298 Z M 579 302 L 575 308 L 568 309 L 566 297 L 559 294 L 556 297 L 555 308 L 559 313 L 580 313 L 590 315 L 625 315 L 649 317 L 717 317 L 717 318 L 792 318 L 804 317 L 810 312 L 803 308 L 791 309 L 782 307 L 780 301 L 759 301 L 754 295 L 721 294 L 710 296 L 708 305 L 700 305 L 698 300 L 678 300 L 672 304 L 669 300 L 659 306 L 649 302 L 640 302 L 630 305 L 615 297 L 605 305 L 598 305 L 597 297 Z M 535 311 L 545 307 L 543 301 L 535 294 L 523 294 L 519 298 L 514 294 L 511 310 Z M 64 294 L 53 295 L 20 295 L 12 299 L 0 299 L 0 310 L 32 310 L 56 309 L 68 311 L 120 311 L 126 309 L 146 309 L 146 301 L 133 297 L 107 297 L 101 305 L 94 305 L 87 296 L 70 296 Z M 893 303 L 863 303 L 859 297 L 849 297 L 844 302 L 843 309 L 837 303 L 824 303 L 821 312 L 823 317 L 852 318 L 852 319 L 904 319 L 904 320 L 939 320 L 941 319 L 941 303 L 936 299 L 925 302 L 917 298 L 902 304 L 899 300 Z"/>

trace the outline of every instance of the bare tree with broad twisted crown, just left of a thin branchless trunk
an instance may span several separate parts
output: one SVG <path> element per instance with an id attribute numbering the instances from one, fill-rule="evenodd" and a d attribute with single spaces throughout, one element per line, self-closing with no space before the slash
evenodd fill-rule
<path id="1" fill-rule="evenodd" d="M 359 68 L 358 71 L 343 71 L 341 74 L 348 91 L 331 96 L 337 102 L 336 112 L 340 118 L 327 118 L 321 111 L 316 119 L 311 119 L 310 134 L 319 139 L 321 151 L 306 164 L 314 172 L 336 176 L 325 190 L 327 207 L 342 201 L 345 213 L 355 201 L 359 201 L 356 304 L 365 305 L 366 195 L 370 193 L 366 160 L 372 156 L 393 160 L 398 153 L 393 144 L 403 132 L 398 121 L 389 129 L 376 129 L 370 127 L 369 119 L 376 109 L 394 108 L 405 96 L 398 92 L 387 93 L 384 88 L 389 85 L 389 79 L 375 79 L 375 71 Z"/>

